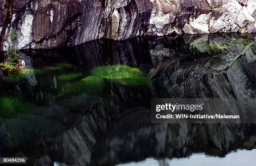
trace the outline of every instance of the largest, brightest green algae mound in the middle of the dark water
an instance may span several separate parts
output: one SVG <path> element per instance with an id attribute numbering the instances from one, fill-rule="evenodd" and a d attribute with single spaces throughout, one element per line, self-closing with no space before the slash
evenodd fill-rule
<path id="1" fill-rule="evenodd" d="M 98 66 L 92 69 L 92 74 L 103 79 L 109 79 L 124 86 L 146 85 L 146 74 L 138 68 L 116 64 L 111 66 Z"/>

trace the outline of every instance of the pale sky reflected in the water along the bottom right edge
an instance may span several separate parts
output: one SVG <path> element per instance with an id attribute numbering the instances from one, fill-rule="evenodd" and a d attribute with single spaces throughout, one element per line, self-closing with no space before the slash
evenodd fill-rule
<path id="1" fill-rule="evenodd" d="M 202 153 L 193 154 L 189 158 L 174 158 L 156 160 L 147 158 L 145 161 L 119 164 L 117 166 L 255 166 L 256 149 L 252 151 L 238 150 L 231 152 L 224 158 L 207 156 Z"/>

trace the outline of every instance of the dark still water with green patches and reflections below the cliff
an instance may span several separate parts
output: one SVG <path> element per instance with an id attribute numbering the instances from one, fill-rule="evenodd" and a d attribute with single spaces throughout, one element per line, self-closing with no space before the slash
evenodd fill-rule
<path id="1" fill-rule="evenodd" d="M 22 50 L 26 69 L 0 81 L 0 156 L 26 156 L 29 165 L 166 165 L 252 150 L 255 124 L 151 124 L 150 102 L 255 98 L 255 41 L 183 35 Z"/>

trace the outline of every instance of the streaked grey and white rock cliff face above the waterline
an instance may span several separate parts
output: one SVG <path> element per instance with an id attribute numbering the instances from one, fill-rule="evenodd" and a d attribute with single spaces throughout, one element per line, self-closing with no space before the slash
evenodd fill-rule
<path id="1" fill-rule="evenodd" d="M 170 33 L 256 33 L 256 0 L 0 0 L 0 50 L 74 46 Z"/>

